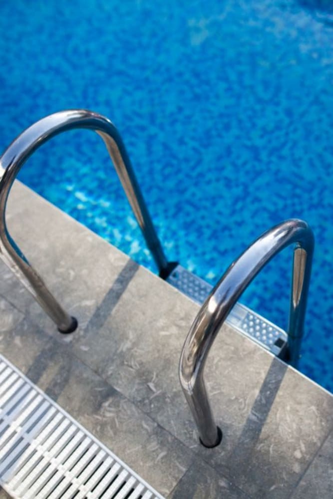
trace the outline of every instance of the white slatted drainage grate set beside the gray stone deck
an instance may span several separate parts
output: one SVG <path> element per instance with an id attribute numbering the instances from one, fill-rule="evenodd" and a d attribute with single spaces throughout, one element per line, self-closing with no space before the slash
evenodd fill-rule
<path id="1" fill-rule="evenodd" d="M 17 499 L 163 499 L 2 355 L 0 485 Z"/>

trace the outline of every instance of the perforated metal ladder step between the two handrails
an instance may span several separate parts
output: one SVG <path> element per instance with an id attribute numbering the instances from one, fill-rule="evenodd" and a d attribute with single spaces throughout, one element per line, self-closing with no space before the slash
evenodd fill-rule
<path id="1" fill-rule="evenodd" d="M 171 272 L 167 282 L 200 305 L 213 289 L 213 286 L 208 282 L 200 279 L 181 265 L 177 265 Z M 288 336 L 283 329 L 241 303 L 236 303 L 226 322 L 270 350 L 274 355 L 279 356 L 286 346 Z"/>

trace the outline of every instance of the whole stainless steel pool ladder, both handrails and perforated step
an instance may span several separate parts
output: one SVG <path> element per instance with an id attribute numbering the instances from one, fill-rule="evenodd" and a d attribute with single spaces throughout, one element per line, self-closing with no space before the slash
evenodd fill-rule
<path id="1" fill-rule="evenodd" d="M 70 333 L 77 321 L 58 303 L 42 278 L 10 237 L 5 209 L 11 186 L 25 161 L 46 141 L 72 129 L 94 130 L 104 141 L 127 199 L 152 253 L 159 275 L 202 304 L 185 341 L 179 375 L 185 397 L 199 429 L 202 443 L 214 447 L 221 440 L 210 409 L 203 371 L 212 343 L 224 321 L 260 343 L 274 355 L 296 366 L 303 337 L 311 274 L 314 237 L 301 220 L 287 220 L 264 233 L 235 260 L 212 289 L 177 262 L 169 262 L 156 234 L 134 175 L 125 146 L 115 126 L 100 114 L 68 110 L 46 116 L 24 130 L 0 157 L 0 258 L 13 271 L 62 333 Z M 288 333 L 238 299 L 278 252 L 295 244 Z"/>

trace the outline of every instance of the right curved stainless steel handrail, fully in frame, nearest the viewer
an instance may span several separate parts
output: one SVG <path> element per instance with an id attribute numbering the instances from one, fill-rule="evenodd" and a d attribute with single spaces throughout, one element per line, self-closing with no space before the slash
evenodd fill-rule
<path id="1" fill-rule="evenodd" d="M 311 275 L 314 236 L 302 220 L 287 220 L 265 232 L 227 269 L 202 305 L 185 340 L 179 364 L 179 378 L 185 398 L 206 447 L 222 438 L 216 426 L 203 379 L 213 341 L 230 310 L 254 277 L 277 253 L 296 243 L 288 326 L 289 360 L 296 365 L 303 336 Z"/>

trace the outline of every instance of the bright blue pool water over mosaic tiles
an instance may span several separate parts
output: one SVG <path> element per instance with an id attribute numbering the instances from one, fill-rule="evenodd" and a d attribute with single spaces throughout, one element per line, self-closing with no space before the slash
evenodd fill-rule
<path id="1" fill-rule="evenodd" d="M 331 5 L 1 2 L 0 148 L 61 109 L 105 114 L 167 256 L 211 283 L 271 226 L 308 221 L 317 248 L 300 369 L 333 391 Z M 99 137 L 54 138 L 20 178 L 154 269 Z M 283 327 L 291 255 L 273 260 L 242 300 Z"/>

